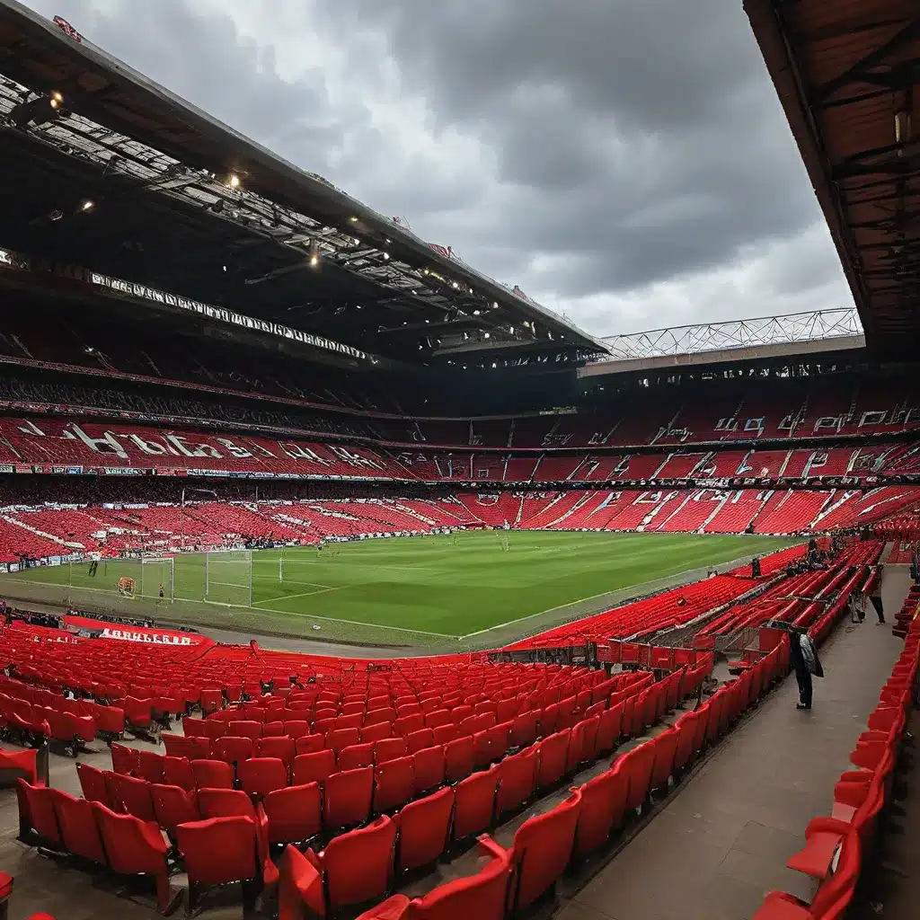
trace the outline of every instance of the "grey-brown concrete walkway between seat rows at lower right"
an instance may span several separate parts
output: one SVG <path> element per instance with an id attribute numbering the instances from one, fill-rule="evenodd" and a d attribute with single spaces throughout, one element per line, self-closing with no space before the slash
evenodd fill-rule
<path id="1" fill-rule="evenodd" d="M 907 587 L 906 569 L 886 571 L 889 624 Z M 786 860 L 811 818 L 830 813 L 834 783 L 902 649 L 874 614 L 856 627 L 845 619 L 821 650 L 826 676 L 811 712 L 795 708 L 789 677 L 557 920 L 747 920 L 771 889 L 811 898 L 811 882 Z"/>

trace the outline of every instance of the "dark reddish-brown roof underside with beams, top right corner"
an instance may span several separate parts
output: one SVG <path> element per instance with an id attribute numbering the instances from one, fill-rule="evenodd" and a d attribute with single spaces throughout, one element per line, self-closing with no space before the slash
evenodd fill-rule
<path id="1" fill-rule="evenodd" d="M 744 0 L 877 351 L 920 340 L 920 4 Z"/>

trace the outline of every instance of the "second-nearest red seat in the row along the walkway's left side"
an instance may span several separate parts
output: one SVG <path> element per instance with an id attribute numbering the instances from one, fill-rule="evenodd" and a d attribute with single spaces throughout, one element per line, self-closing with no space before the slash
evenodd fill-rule
<path id="1" fill-rule="evenodd" d="M 512 909 L 515 913 L 551 889 L 569 865 L 580 811 L 581 792 L 572 789 L 568 799 L 546 814 L 523 822 L 514 834 L 512 866 L 517 868 L 517 874 Z"/>

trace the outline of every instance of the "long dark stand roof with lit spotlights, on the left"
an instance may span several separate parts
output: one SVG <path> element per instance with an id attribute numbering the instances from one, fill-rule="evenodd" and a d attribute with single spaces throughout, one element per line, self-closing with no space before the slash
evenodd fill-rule
<path id="1" fill-rule="evenodd" d="M 403 360 L 605 351 L 16 0 L 0 0 L 0 167 L 0 247 Z"/>

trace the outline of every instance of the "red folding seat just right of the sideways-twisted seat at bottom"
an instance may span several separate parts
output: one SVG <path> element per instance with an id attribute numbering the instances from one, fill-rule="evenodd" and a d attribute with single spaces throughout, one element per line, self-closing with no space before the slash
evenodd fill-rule
<path id="1" fill-rule="evenodd" d="M 393 881 L 396 837 L 396 822 L 383 815 L 367 827 L 339 834 L 321 855 L 306 851 L 323 881 L 329 912 L 386 893 Z"/>

